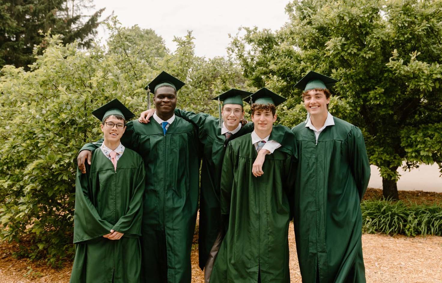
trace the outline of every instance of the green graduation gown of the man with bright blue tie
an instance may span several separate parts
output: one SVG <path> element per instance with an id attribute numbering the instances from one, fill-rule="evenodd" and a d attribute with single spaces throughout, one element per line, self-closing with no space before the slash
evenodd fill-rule
<path id="1" fill-rule="evenodd" d="M 155 119 L 127 123 L 121 139 L 144 160 L 141 281 L 191 282 L 191 247 L 198 208 L 198 137 L 180 117 L 166 135 Z M 82 148 L 94 150 L 100 143 Z"/>

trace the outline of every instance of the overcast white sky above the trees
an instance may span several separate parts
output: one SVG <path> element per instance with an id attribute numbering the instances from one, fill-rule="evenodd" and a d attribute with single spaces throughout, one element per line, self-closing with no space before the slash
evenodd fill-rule
<path id="1" fill-rule="evenodd" d="M 279 29 L 287 20 L 285 7 L 290 0 L 94 0 L 95 8 L 106 7 L 104 15 L 114 11 L 123 26 L 137 24 L 151 28 L 166 46 L 175 50 L 174 36 L 193 30 L 197 56 L 225 56 L 229 33 L 240 26 Z M 99 37 L 107 38 L 103 27 Z"/>

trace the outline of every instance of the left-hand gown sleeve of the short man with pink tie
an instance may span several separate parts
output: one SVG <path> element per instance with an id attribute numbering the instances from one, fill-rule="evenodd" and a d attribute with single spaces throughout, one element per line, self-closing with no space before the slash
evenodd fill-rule
<path id="1" fill-rule="evenodd" d="M 100 218 L 92 204 L 89 165 L 86 164 L 86 174 L 81 174 L 77 168 L 75 182 L 75 212 L 74 212 L 74 244 L 102 237 L 110 232 L 112 224 Z"/>

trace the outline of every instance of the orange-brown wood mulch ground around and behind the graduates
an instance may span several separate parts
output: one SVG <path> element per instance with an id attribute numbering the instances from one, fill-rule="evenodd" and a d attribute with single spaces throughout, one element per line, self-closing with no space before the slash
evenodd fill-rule
<path id="1" fill-rule="evenodd" d="M 366 197 L 380 199 L 381 190 L 368 189 Z M 442 193 L 400 191 L 402 200 L 442 204 Z M 192 248 L 192 283 L 202 283 L 198 268 L 198 245 Z M 293 224 L 289 228 L 291 282 L 301 282 Z M 407 238 L 382 234 L 362 235 L 362 248 L 369 283 L 442 283 L 442 237 Z M 11 256 L 17 245 L 0 243 L 0 283 L 68 283 L 72 262 L 61 269 Z"/>

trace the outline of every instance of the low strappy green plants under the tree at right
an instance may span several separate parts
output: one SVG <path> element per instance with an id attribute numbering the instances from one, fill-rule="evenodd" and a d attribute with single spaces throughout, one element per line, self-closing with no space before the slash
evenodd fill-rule
<path id="1" fill-rule="evenodd" d="M 366 233 L 442 236 L 442 207 L 437 204 L 365 200 L 361 210 Z"/>

